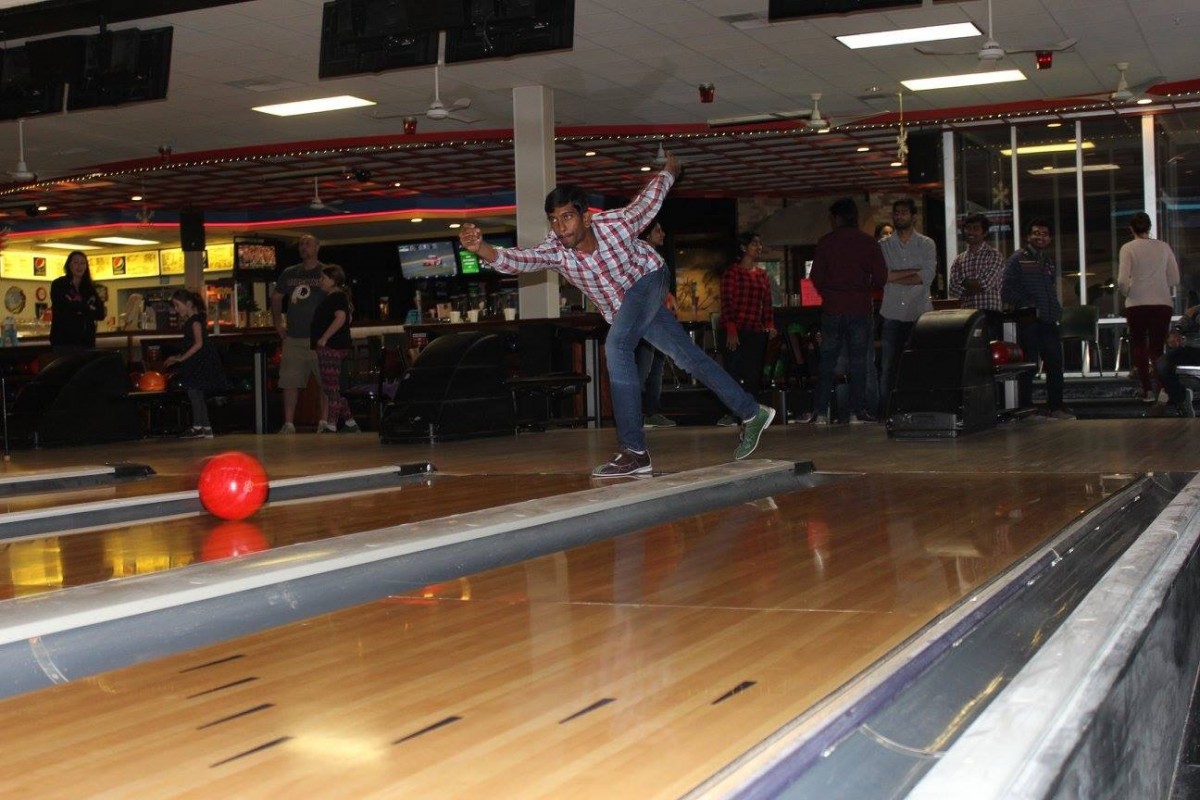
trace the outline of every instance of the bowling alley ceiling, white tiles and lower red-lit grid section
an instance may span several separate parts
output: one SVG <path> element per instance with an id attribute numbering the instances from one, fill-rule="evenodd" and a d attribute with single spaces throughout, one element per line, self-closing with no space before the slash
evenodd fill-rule
<path id="1" fill-rule="evenodd" d="M 890 166 L 899 80 L 979 70 L 979 60 L 924 55 L 912 46 L 852 50 L 834 37 L 961 22 L 988 26 L 979 1 L 924 0 L 768 23 L 766 0 L 575 0 L 570 49 L 438 70 L 443 102 L 470 100 L 476 121 L 462 122 L 425 116 L 432 66 L 319 79 L 323 5 L 250 0 L 114 25 L 173 28 L 167 98 L 38 114 L 24 120 L 23 131 L 13 120 L 0 122 L 0 227 L 20 234 L 66 221 L 137 225 L 188 206 L 209 218 L 343 223 L 413 209 L 510 206 L 512 89 L 532 84 L 552 90 L 558 181 L 598 194 L 635 191 L 660 146 L 685 163 L 679 194 L 905 191 L 906 169 Z M 1200 100 L 1194 2 L 1004 0 L 997 12 L 994 38 L 1008 49 L 1076 43 L 1055 53 L 1050 70 L 1036 70 L 1032 53 L 1008 55 L 1001 66 L 1020 68 L 1027 77 L 1020 83 L 905 94 L 908 130 L 1140 113 L 1133 100 L 1110 98 L 1117 61 L 1129 64 L 1128 83 L 1152 110 Z M 929 47 L 973 50 L 984 40 Z M 701 102 L 701 84 L 713 85 L 712 103 Z M 829 132 L 796 119 L 707 124 L 809 108 L 815 92 Z M 331 95 L 377 104 L 286 119 L 251 110 Z M 416 119 L 414 133 L 402 131 L 406 115 Z M 22 161 L 36 179 L 13 176 Z M 314 197 L 322 207 L 310 207 Z M 46 210 L 30 216 L 38 205 Z"/>

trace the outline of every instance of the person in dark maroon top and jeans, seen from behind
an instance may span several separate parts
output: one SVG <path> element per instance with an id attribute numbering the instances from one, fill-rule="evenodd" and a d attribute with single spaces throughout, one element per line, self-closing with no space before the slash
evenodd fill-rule
<path id="1" fill-rule="evenodd" d="M 874 422 L 866 408 L 866 354 L 871 344 L 871 291 L 888 279 L 880 243 L 858 229 L 858 206 L 848 197 L 829 206 L 832 230 L 817 241 L 812 285 L 821 293 L 821 378 L 811 421 L 829 421 L 829 395 L 842 342 L 847 350 L 851 422 Z"/>

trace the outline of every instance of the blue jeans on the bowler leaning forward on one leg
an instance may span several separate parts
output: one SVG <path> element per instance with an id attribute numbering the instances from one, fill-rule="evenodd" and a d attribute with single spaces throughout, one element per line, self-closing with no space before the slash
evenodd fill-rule
<path id="1" fill-rule="evenodd" d="M 631 285 L 608 329 L 604 351 L 608 360 L 608 391 L 617 443 L 629 450 L 646 450 L 642 429 L 642 381 L 634 350 L 642 339 L 661 350 L 676 366 L 708 386 L 742 420 L 758 413 L 758 403 L 730 374 L 701 350 L 683 325 L 662 305 L 667 295 L 667 271 L 655 270 Z"/>

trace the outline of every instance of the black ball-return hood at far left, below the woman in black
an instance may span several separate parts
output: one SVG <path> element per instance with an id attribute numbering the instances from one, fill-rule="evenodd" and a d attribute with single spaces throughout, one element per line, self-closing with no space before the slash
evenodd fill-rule
<path id="1" fill-rule="evenodd" d="M 130 377 L 116 350 L 55 359 L 12 404 L 8 434 L 17 444 L 96 444 L 142 438 Z"/>

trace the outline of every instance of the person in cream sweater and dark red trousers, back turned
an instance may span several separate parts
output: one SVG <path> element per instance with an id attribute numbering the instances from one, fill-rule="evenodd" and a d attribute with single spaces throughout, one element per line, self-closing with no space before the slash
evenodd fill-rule
<path id="1" fill-rule="evenodd" d="M 1117 288 L 1126 296 L 1129 353 L 1141 381 L 1142 399 L 1153 403 L 1159 389 L 1153 381 L 1153 368 L 1163 355 L 1171 326 L 1180 264 L 1170 245 L 1150 237 L 1150 215 L 1145 211 L 1133 215 L 1129 231 L 1133 241 L 1121 246 L 1117 260 Z"/>

